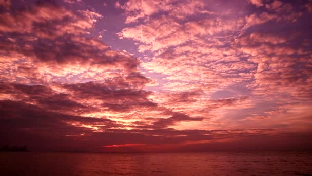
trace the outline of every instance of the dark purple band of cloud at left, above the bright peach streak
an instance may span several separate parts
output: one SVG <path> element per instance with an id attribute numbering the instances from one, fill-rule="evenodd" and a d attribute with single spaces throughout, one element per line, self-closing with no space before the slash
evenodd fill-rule
<path id="1" fill-rule="evenodd" d="M 32 59 L 33 62 L 45 62 L 51 66 L 53 64 L 82 64 L 103 68 L 122 68 L 130 72 L 129 79 L 140 78 L 140 75 L 135 73 L 136 66 L 139 64 L 138 60 L 127 54 L 113 51 L 107 45 L 92 38 L 89 39 L 90 43 L 82 42 L 81 40 L 84 39 L 69 36 L 53 40 L 35 38 L 33 41 L 27 41 L 28 38 L 25 35 L 18 36 L 18 34 L 1 38 L 3 46 L 1 53 L 10 57 L 22 55 Z"/>

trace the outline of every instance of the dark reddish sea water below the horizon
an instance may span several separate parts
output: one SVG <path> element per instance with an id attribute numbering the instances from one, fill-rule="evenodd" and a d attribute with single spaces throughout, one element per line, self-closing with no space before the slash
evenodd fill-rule
<path id="1" fill-rule="evenodd" d="M 1 152 L 0 175 L 312 175 L 312 153 Z"/>

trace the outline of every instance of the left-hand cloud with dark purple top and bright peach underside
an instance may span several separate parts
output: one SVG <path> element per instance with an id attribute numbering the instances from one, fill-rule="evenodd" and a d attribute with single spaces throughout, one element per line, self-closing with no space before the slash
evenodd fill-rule
<path id="1" fill-rule="evenodd" d="M 102 78 L 94 77 L 97 80 L 125 74 L 128 75 L 125 80 L 129 83 L 133 82 L 139 86 L 140 79 L 141 82 L 149 82 L 138 73 L 139 61 L 136 58 L 111 50 L 109 46 L 96 39 L 63 37 L 54 40 L 37 39 L 31 42 L 18 38 L 17 40 L 2 41 L 4 46 L 2 53 L 10 57 L 10 60 L 5 59 L 3 64 L 11 65 L 11 68 L 15 68 L 14 72 L 18 73 L 7 73 L 7 80 L 24 78 L 24 81 L 30 79 L 29 82 L 40 82 L 44 79 L 49 81 L 53 77 L 60 80 L 68 74 L 73 76 L 84 74 L 83 79 L 92 79 L 91 76 L 87 77 L 87 73 L 93 73 L 102 76 Z"/>

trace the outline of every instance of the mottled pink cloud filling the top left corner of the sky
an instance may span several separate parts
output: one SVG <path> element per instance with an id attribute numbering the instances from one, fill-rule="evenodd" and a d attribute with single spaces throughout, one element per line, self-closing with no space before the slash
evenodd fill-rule
<path id="1" fill-rule="evenodd" d="M 35 33 L 41 38 L 55 38 L 68 33 L 87 33 L 85 29 L 92 28 L 96 19 L 102 17 L 89 10 L 81 10 L 79 13 L 74 14 L 54 3 L 39 2 L 16 13 L 2 13 L 0 19 L 5 20 L 2 21 L 0 31 Z"/>

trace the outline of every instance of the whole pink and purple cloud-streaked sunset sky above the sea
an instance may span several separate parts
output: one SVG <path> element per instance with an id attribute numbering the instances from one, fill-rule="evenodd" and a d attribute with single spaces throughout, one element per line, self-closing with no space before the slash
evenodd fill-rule
<path id="1" fill-rule="evenodd" d="M 312 146 L 312 1 L 0 0 L 0 145 Z"/>

